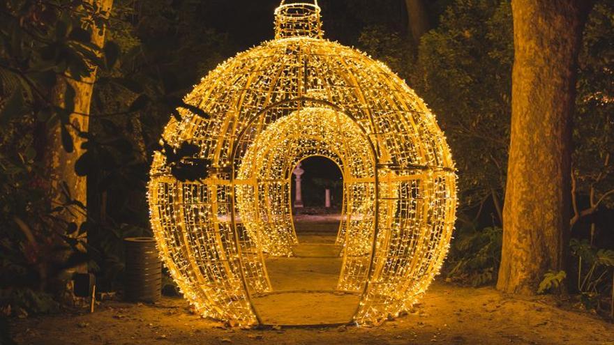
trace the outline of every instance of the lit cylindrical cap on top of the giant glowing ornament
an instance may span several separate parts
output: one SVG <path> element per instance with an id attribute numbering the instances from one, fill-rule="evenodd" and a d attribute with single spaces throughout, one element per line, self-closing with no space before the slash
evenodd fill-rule
<path id="1" fill-rule="evenodd" d="M 275 39 L 289 37 L 322 38 L 322 20 L 317 0 L 313 3 L 286 3 L 275 9 Z"/>

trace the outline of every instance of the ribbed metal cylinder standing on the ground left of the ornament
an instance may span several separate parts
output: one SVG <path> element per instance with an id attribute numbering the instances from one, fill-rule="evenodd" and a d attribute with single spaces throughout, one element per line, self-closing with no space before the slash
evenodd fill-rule
<path id="1" fill-rule="evenodd" d="M 156 302 L 162 291 L 162 263 L 151 237 L 124 238 L 126 300 Z"/>

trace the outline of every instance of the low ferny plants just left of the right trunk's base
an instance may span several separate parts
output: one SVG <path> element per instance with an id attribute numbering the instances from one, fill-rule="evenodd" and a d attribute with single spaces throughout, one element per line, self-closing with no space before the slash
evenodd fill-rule
<path id="1" fill-rule="evenodd" d="M 447 278 L 473 286 L 494 282 L 500 265 L 502 234 L 498 227 L 458 229 L 446 261 Z"/>

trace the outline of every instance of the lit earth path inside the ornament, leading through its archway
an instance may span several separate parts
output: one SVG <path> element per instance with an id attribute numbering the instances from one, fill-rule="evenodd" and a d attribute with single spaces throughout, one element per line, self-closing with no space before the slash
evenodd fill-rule
<path id="1" fill-rule="evenodd" d="M 332 224 L 300 224 L 294 257 L 266 260 L 274 293 L 253 299 L 262 323 L 343 325 L 352 320 L 360 296 L 335 290 L 342 260 L 341 247 L 334 245 L 336 223 Z"/>

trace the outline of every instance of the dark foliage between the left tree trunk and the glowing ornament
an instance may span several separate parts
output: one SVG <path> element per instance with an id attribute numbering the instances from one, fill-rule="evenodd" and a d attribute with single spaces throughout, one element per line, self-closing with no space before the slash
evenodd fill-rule
<path id="1" fill-rule="evenodd" d="M 182 181 L 206 177 L 208 162 L 193 158 L 195 145 L 159 141 L 169 114 L 180 117 L 177 107 L 207 116 L 181 98 L 230 54 L 227 37 L 202 23 L 202 10 L 195 1 L 114 3 L 108 39 L 117 41 L 122 54 L 112 70 L 100 74 L 88 151 L 77 164 L 83 168 L 77 172 L 88 176 L 88 213 L 96 222 L 89 233 L 91 253 L 107 285 L 121 277 L 123 238 L 151 236 L 146 185 L 153 152 L 173 162 L 172 174 Z M 121 114 L 130 103 L 134 112 Z"/>

